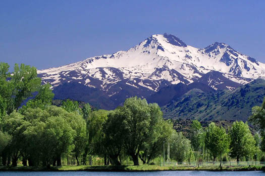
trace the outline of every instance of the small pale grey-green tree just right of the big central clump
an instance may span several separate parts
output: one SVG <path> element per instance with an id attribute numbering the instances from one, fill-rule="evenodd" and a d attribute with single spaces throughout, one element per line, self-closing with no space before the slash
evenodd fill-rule
<path id="1" fill-rule="evenodd" d="M 190 154 L 190 140 L 188 140 L 183 134 L 174 132 L 170 139 L 171 157 L 181 164 Z"/>

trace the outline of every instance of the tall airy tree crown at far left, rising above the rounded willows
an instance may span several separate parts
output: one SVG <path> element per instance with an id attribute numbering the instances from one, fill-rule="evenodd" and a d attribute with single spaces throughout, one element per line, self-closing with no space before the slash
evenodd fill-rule
<path id="1" fill-rule="evenodd" d="M 15 64 L 14 72 L 11 74 L 9 65 L 1 62 L 0 95 L 5 101 L 6 113 L 11 114 L 14 110 L 18 110 L 23 101 L 33 96 L 32 93 L 37 91 L 40 83 L 41 79 L 37 77 L 35 67 Z"/>

